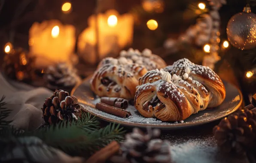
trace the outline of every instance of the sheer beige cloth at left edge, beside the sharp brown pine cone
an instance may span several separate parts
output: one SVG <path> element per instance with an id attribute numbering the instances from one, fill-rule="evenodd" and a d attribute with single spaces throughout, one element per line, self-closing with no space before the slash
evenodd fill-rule
<path id="1" fill-rule="evenodd" d="M 34 88 L 23 83 L 7 81 L 0 73 L 0 98 L 4 95 L 6 107 L 12 110 L 8 120 L 23 130 L 35 130 L 43 123 L 42 106 L 53 94 L 46 88 Z"/>

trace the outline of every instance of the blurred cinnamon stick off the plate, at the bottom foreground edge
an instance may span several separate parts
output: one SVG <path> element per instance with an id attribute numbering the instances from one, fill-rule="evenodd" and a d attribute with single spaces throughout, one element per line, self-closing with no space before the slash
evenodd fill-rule
<path id="1" fill-rule="evenodd" d="M 108 158 L 116 154 L 120 149 L 118 142 L 113 141 L 106 147 L 102 148 L 100 151 L 97 151 L 93 154 L 86 163 L 105 163 Z"/>

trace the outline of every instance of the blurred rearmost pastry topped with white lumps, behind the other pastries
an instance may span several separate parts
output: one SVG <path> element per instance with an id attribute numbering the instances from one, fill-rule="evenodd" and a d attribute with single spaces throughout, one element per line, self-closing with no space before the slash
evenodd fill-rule
<path id="1" fill-rule="evenodd" d="M 142 52 L 130 48 L 128 51 L 121 51 L 120 58 L 126 58 L 128 62 L 144 65 L 147 70 L 161 69 L 166 66 L 165 61 L 158 55 L 152 54 L 152 51 L 145 48 Z"/>

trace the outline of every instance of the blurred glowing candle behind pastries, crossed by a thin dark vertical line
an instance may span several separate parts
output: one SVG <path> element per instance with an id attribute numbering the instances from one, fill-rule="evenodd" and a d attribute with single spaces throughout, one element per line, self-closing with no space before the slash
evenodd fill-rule
<path id="1" fill-rule="evenodd" d="M 119 15 L 116 10 L 98 14 L 98 49 L 96 58 L 95 15 L 88 18 L 86 28 L 78 38 L 78 53 L 87 63 L 94 64 L 106 56 L 116 57 L 118 52 L 132 43 L 134 20 L 131 14 Z"/>

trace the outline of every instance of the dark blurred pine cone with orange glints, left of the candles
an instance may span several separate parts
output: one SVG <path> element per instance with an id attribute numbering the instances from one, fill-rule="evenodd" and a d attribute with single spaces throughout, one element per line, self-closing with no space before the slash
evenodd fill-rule
<path id="1" fill-rule="evenodd" d="M 11 79 L 31 82 L 34 78 L 34 57 L 30 57 L 22 48 L 5 54 L 3 72 Z"/>

